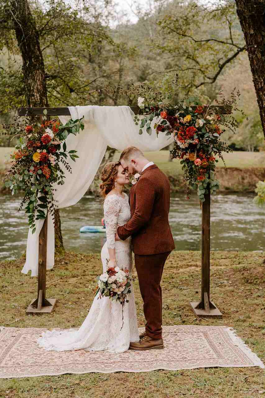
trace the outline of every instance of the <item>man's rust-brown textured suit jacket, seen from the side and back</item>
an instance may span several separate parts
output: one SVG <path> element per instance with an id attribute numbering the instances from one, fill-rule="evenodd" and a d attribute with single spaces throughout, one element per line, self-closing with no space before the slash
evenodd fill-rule
<path id="1" fill-rule="evenodd" d="M 119 226 L 121 240 L 132 236 L 134 254 L 171 252 L 175 248 L 168 222 L 170 183 L 155 165 L 147 167 L 130 190 L 131 219 Z"/>

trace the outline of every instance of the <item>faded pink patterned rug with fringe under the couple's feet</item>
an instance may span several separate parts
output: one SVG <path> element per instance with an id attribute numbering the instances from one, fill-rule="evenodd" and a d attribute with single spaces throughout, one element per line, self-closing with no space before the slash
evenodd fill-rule
<path id="1" fill-rule="evenodd" d="M 45 330 L 0 328 L 0 378 L 204 367 L 264 368 L 257 355 L 224 326 L 164 326 L 164 350 L 128 350 L 120 354 L 84 349 L 45 351 L 36 343 Z M 141 333 L 144 329 L 139 330 Z"/>

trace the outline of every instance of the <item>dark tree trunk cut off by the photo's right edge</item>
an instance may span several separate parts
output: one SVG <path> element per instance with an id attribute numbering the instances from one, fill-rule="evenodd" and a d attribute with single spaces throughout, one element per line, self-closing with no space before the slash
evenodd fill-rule
<path id="1" fill-rule="evenodd" d="M 265 137 L 265 0 L 235 0 Z"/>

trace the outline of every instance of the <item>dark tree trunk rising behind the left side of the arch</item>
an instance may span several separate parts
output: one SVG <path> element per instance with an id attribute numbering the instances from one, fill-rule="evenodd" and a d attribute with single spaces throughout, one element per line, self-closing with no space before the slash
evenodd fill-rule
<path id="1" fill-rule="evenodd" d="M 9 9 L 23 62 L 25 97 L 29 107 L 48 107 L 45 66 L 39 33 L 27 0 L 13 0 Z M 55 253 L 64 252 L 59 210 L 55 210 Z"/>

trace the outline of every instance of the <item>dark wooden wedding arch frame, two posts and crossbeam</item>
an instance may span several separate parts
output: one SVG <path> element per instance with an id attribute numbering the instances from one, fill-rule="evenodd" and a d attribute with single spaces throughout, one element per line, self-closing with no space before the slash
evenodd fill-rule
<path id="1" fill-rule="evenodd" d="M 196 106 L 191 106 L 196 108 Z M 230 113 L 230 109 L 223 105 L 214 106 L 220 114 Z M 18 108 L 19 116 L 41 116 L 47 109 L 47 116 L 70 116 L 68 108 Z M 131 107 L 135 115 L 139 107 Z M 38 290 L 37 298 L 33 299 L 27 308 L 27 313 L 52 312 L 55 307 L 55 298 L 46 298 L 46 265 L 47 265 L 47 217 L 39 234 L 39 265 L 38 265 Z M 191 308 L 198 317 L 222 318 L 221 312 L 216 305 L 210 301 L 210 189 L 205 194 L 202 203 L 201 223 L 201 301 L 191 302 Z"/>

